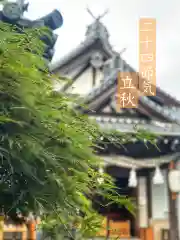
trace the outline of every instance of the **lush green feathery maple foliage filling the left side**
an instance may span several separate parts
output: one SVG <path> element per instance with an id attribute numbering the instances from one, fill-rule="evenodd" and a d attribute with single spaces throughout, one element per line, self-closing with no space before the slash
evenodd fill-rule
<path id="1" fill-rule="evenodd" d="M 91 236 L 101 226 L 92 207 L 96 195 L 134 211 L 110 176 L 97 184 L 95 142 L 118 135 L 103 133 L 74 109 L 75 99 L 53 90 L 57 76 L 42 58 L 42 34 L 48 30 L 17 32 L 0 23 L 1 211 L 14 220 L 17 209 L 41 214 L 46 233 L 71 234 L 78 223 L 81 235 Z"/>

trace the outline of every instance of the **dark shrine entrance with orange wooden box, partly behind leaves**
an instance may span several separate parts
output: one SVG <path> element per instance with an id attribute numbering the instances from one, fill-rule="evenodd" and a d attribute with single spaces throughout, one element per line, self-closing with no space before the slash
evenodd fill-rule
<path id="1" fill-rule="evenodd" d="M 134 204 L 136 204 L 137 188 L 128 187 L 129 169 L 117 166 L 107 166 L 105 171 L 115 179 L 118 193 L 121 196 L 127 196 L 133 199 Z M 99 201 L 101 200 L 99 199 Z M 100 208 L 99 212 L 107 218 L 107 228 L 111 229 L 109 233 L 107 233 L 109 237 L 115 235 L 112 231 L 116 231 L 116 234 L 119 232 L 119 237 L 138 236 L 138 220 L 136 216 L 130 213 L 124 206 L 112 204 L 107 208 Z"/>

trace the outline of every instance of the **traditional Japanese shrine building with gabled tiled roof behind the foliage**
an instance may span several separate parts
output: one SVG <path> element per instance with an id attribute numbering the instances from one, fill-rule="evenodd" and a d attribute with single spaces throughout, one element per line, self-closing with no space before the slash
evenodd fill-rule
<path id="1" fill-rule="evenodd" d="M 58 86 L 59 90 L 79 94 L 89 109 L 85 113 L 100 127 L 133 133 L 136 126 L 157 135 L 156 144 L 133 138 L 124 147 L 109 143 L 99 150 L 105 171 L 116 178 L 120 193 L 134 197 L 137 204 L 136 217 L 116 206 L 104 214 L 109 221 L 129 224 L 129 232 L 119 236 L 178 240 L 180 194 L 177 190 L 173 197 L 168 172 L 170 162 L 174 168 L 179 159 L 180 102 L 157 87 L 156 96 L 140 97 L 137 108 L 117 110 L 118 73 L 135 70 L 113 50 L 100 18 L 88 26 L 84 41 L 53 63 L 51 70 L 72 79 Z"/>

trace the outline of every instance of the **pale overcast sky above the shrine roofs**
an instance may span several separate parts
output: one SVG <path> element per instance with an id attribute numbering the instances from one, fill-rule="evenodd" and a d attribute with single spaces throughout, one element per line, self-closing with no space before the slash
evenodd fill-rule
<path id="1" fill-rule="evenodd" d="M 180 1 L 179 0 L 30 0 L 28 17 L 35 19 L 57 8 L 64 24 L 57 31 L 55 60 L 62 58 L 83 39 L 92 23 L 87 13 L 109 13 L 102 22 L 110 33 L 116 51 L 127 48 L 123 57 L 138 69 L 138 21 L 140 17 L 157 20 L 157 85 L 180 99 Z"/>

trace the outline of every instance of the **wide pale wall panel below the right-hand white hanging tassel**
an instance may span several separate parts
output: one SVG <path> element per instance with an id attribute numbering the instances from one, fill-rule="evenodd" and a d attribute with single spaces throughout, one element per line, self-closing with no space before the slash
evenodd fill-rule
<path id="1" fill-rule="evenodd" d="M 168 186 L 166 171 L 162 171 L 164 176 L 164 184 L 154 185 L 151 182 L 152 189 L 152 220 L 168 219 L 169 203 L 168 203 Z M 151 176 L 153 178 L 154 173 Z"/>

